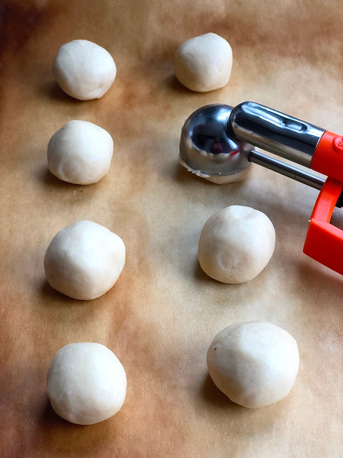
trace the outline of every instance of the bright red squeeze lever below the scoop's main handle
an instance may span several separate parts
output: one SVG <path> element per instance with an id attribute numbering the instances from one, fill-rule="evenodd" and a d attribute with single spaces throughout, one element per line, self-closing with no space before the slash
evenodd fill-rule
<path id="1" fill-rule="evenodd" d="M 313 208 L 303 250 L 307 256 L 341 275 L 343 275 L 343 230 L 330 224 L 330 219 L 342 191 L 341 181 L 327 178 Z"/>

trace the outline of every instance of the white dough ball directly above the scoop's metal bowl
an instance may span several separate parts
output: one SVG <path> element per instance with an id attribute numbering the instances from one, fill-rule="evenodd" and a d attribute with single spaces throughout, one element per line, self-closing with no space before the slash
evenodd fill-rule
<path id="1" fill-rule="evenodd" d="M 178 47 L 174 61 L 179 82 L 197 92 L 224 87 L 230 79 L 231 67 L 231 46 L 216 33 L 185 41 Z"/>

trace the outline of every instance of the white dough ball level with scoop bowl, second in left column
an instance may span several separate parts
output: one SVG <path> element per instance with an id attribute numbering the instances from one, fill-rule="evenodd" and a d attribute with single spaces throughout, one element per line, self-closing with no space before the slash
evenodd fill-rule
<path id="1" fill-rule="evenodd" d="M 96 124 L 69 121 L 50 138 L 48 167 L 57 178 L 77 185 L 96 183 L 107 174 L 113 139 Z"/>

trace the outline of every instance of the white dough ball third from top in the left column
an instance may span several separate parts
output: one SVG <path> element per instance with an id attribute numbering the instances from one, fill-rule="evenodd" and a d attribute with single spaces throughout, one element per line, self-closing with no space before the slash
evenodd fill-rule
<path id="1" fill-rule="evenodd" d="M 89 300 L 113 287 L 124 262 L 125 245 L 117 234 L 93 221 L 77 221 L 51 240 L 44 270 L 54 289 Z"/>

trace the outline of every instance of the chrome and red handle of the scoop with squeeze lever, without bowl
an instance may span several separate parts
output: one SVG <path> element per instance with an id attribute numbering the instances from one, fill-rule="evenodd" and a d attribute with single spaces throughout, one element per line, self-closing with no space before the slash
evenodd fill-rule
<path id="1" fill-rule="evenodd" d="M 287 176 L 317 189 L 322 187 L 303 251 L 343 275 L 343 230 L 330 224 L 334 207 L 342 207 L 343 201 L 343 136 L 254 102 L 237 105 L 230 114 L 228 127 L 240 140 L 327 175 L 323 185 L 319 177 L 316 181 L 316 177 L 309 174 L 308 180 L 300 180 L 297 174 L 305 176 L 306 172 L 299 169 L 293 168 L 295 172 Z M 249 160 L 257 162 L 253 157 L 255 153 L 251 153 Z M 267 161 L 260 158 L 257 163 L 272 168 L 264 164 Z M 273 170 L 285 174 L 282 164 L 275 161 Z"/>

